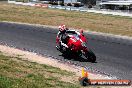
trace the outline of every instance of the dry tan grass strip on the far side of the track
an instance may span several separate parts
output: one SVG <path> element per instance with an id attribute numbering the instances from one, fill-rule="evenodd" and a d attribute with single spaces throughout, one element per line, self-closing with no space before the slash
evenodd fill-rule
<path id="1" fill-rule="evenodd" d="M 0 21 L 14 21 L 58 26 L 132 36 L 132 19 L 129 17 L 95 13 L 55 10 L 0 3 Z"/>

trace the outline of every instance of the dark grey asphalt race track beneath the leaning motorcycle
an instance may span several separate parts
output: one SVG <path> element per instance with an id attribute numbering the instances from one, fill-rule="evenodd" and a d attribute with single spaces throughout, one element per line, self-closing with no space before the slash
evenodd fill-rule
<path id="1" fill-rule="evenodd" d="M 108 39 L 85 33 L 87 46 L 97 56 L 97 63 L 68 59 L 56 50 L 55 38 L 57 30 L 48 27 L 37 27 L 24 24 L 0 22 L 0 43 L 25 48 L 40 54 L 49 54 L 59 59 L 98 70 L 121 79 L 132 80 L 132 43 Z"/>

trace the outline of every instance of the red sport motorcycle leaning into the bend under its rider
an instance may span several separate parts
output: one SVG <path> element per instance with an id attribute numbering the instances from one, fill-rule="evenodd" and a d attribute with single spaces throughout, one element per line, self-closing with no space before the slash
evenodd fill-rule
<path id="1" fill-rule="evenodd" d="M 96 56 L 95 54 L 86 46 L 86 37 L 83 35 L 83 32 L 77 32 L 75 34 L 68 33 L 68 40 L 67 40 L 67 46 L 63 47 L 62 50 L 58 49 L 61 53 L 64 55 L 72 55 L 72 56 L 78 56 L 82 57 L 84 56 L 86 60 L 95 62 Z M 57 41 L 57 44 L 59 44 L 60 41 Z"/>

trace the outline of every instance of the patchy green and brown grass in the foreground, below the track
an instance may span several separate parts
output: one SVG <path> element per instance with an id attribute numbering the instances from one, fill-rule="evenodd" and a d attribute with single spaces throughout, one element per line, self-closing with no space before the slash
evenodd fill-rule
<path id="1" fill-rule="evenodd" d="M 72 72 L 29 62 L 0 53 L 0 88 L 79 88 L 79 83 L 62 81 L 75 76 Z"/>

